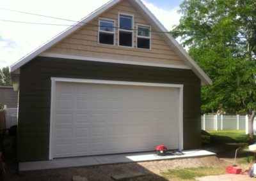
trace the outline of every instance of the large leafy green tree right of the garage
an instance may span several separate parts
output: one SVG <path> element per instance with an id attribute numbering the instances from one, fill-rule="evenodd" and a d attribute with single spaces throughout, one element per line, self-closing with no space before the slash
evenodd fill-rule
<path id="1" fill-rule="evenodd" d="M 202 112 L 247 113 L 253 138 L 256 110 L 256 1 L 185 0 L 171 32 L 209 75 Z"/>

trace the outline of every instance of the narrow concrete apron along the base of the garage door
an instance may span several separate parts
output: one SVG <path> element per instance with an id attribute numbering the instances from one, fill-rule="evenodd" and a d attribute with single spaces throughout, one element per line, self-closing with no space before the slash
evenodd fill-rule
<path id="1" fill-rule="evenodd" d="M 155 152 L 133 154 L 113 154 L 105 156 L 86 156 L 52 159 L 51 161 L 35 161 L 19 163 L 19 171 L 47 170 L 79 166 L 95 166 L 102 164 L 138 163 L 143 161 L 161 161 L 168 159 L 184 159 L 194 157 L 216 156 L 207 150 L 184 150 L 179 156 L 157 156 Z"/>

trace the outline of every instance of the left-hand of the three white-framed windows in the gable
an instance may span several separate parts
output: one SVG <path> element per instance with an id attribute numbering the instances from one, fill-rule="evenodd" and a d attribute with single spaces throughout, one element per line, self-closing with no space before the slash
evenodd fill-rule
<path id="1" fill-rule="evenodd" d="M 99 20 L 99 43 L 115 45 L 114 20 Z"/>

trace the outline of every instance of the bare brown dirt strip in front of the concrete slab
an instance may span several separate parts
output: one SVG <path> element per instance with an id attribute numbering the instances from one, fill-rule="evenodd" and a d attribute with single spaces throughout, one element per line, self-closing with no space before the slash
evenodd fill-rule
<path id="1" fill-rule="evenodd" d="M 161 180 L 161 172 L 174 168 L 196 168 L 200 166 L 220 166 L 224 164 L 217 157 L 200 157 L 190 159 L 175 159 L 165 161 L 151 161 L 143 163 L 112 164 L 79 168 L 63 168 L 56 170 L 27 171 L 17 174 L 7 174 L 4 180 L 12 181 L 71 181 L 73 176 L 88 178 L 88 181 L 112 180 L 111 176 L 122 173 L 145 173 L 145 177 L 129 180 Z"/>

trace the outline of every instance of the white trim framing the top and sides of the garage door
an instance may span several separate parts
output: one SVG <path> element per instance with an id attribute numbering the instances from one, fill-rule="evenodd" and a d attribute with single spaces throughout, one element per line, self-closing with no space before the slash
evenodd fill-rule
<path id="1" fill-rule="evenodd" d="M 149 87 L 174 87 L 180 89 L 179 94 L 179 150 L 183 150 L 183 87 L 182 84 L 171 83 L 148 83 L 148 82 L 125 82 L 115 80 L 94 80 L 94 79 L 79 79 L 79 78 L 51 78 L 51 117 L 50 117 L 50 135 L 49 135 L 49 159 L 53 159 L 52 154 L 52 140 L 54 129 L 54 112 L 55 112 L 55 92 L 56 82 L 76 82 L 76 83 L 97 83 L 97 84 L 111 84 L 111 85 L 135 85 L 135 86 L 149 86 Z"/>

